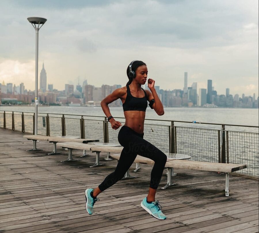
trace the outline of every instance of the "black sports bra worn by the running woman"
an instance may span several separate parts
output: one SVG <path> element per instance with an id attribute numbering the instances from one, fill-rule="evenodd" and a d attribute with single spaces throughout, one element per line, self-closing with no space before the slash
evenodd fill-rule
<path id="1" fill-rule="evenodd" d="M 141 88 L 145 93 L 144 97 L 134 97 L 130 93 L 129 86 L 127 85 L 126 87 L 127 87 L 127 96 L 126 96 L 125 102 L 122 104 L 123 111 L 144 111 L 145 112 L 148 105 L 147 103 L 148 98 L 145 90 Z"/>

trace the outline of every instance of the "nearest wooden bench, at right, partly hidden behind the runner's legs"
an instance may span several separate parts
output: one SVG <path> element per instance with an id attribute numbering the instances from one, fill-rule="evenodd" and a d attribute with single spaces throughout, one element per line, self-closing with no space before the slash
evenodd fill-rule
<path id="1" fill-rule="evenodd" d="M 120 154 L 112 154 L 110 158 L 119 160 Z M 136 163 L 154 165 L 154 161 L 142 156 L 137 156 L 135 161 Z M 172 171 L 173 168 L 183 168 L 183 169 L 192 169 L 192 170 L 201 170 L 201 171 L 215 171 L 226 173 L 226 183 L 225 183 L 225 196 L 229 196 L 229 173 L 242 170 L 247 168 L 246 164 L 230 164 L 230 163 L 213 163 L 213 162 L 198 162 L 191 160 L 178 160 L 178 159 L 167 159 L 165 164 L 167 167 L 167 185 L 162 187 L 166 189 L 176 183 L 172 183 Z"/>

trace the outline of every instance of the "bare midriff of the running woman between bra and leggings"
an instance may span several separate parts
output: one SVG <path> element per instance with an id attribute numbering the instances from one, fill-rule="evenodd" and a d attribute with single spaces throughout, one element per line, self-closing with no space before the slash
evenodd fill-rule
<path id="1" fill-rule="evenodd" d="M 144 132 L 144 121 L 146 112 L 144 111 L 125 111 L 125 126 L 132 128 L 135 132 L 142 134 Z"/>

